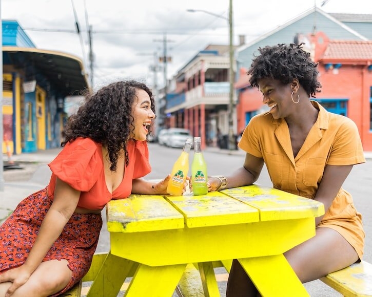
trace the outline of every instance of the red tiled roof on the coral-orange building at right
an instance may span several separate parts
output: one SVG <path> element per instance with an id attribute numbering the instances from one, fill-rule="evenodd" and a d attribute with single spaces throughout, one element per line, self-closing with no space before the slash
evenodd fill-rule
<path id="1" fill-rule="evenodd" d="M 330 40 L 321 61 L 336 60 L 344 63 L 372 61 L 372 41 Z"/>

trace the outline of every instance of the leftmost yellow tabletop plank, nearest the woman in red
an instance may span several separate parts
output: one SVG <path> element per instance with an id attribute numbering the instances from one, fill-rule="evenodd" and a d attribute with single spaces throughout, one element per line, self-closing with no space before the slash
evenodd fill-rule
<path id="1" fill-rule="evenodd" d="M 184 228 L 184 217 L 163 196 L 131 195 L 107 206 L 109 232 L 143 232 Z"/>

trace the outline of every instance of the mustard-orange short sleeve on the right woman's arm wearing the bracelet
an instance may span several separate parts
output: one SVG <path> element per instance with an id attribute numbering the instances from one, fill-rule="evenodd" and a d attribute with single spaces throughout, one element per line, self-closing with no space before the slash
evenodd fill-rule
<path id="1" fill-rule="evenodd" d="M 259 120 L 260 117 L 254 116 L 250 119 L 248 125 L 244 129 L 242 138 L 239 141 L 238 146 L 243 151 L 251 154 L 257 158 L 262 158 L 262 152 L 260 148 L 260 137 L 259 137 Z"/>

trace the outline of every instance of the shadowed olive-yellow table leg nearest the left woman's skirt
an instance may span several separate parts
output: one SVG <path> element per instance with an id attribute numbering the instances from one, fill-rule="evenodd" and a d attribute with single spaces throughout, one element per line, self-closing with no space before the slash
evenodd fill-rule
<path id="1" fill-rule="evenodd" d="M 109 252 L 87 293 L 87 297 L 118 295 L 125 279 L 129 276 L 129 272 L 136 265 L 138 263 L 114 256 Z"/>

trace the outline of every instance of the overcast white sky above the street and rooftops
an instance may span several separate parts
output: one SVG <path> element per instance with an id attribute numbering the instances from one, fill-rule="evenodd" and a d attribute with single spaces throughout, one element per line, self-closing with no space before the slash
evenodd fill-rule
<path id="1" fill-rule="evenodd" d="M 323 0 L 233 0 L 234 44 L 250 43 Z M 118 79 L 153 83 L 154 54 L 163 55 L 166 33 L 171 78 L 208 44 L 228 44 L 228 0 L 0 0 L 1 17 L 15 19 L 39 49 L 74 54 L 89 72 L 92 28 L 94 89 Z M 187 9 L 205 10 L 187 12 Z M 371 0 L 328 0 L 328 13 L 372 14 Z M 76 33 L 79 23 L 81 35 Z M 57 31 L 57 32 L 56 32 Z M 65 32 L 67 31 L 67 32 Z M 82 46 L 83 45 L 83 46 Z M 161 66 L 161 65 L 159 65 Z M 163 86 L 164 72 L 158 73 Z"/>

